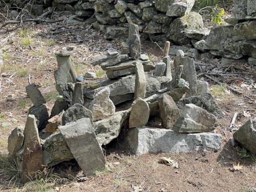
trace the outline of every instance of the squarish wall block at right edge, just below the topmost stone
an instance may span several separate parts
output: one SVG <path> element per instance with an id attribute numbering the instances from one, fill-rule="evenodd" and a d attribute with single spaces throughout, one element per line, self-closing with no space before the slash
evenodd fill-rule
<path id="1" fill-rule="evenodd" d="M 256 20 L 239 23 L 233 28 L 233 40 L 256 39 Z"/>

